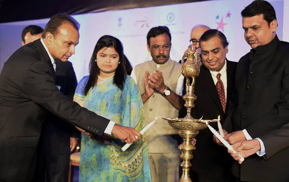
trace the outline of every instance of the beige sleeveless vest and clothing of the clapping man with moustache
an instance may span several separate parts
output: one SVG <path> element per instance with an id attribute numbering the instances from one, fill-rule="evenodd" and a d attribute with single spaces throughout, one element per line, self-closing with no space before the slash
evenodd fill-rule
<path id="1" fill-rule="evenodd" d="M 134 72 L 141 94 L 145 92 L 144 73 L 146 70 L 149 71 L 149 73 L 153 73 L 155 70 L 160 70 L 163 73 L 164 84 L 175 92 L 177 81 L 181 75 L 181 64 L 172 61 L 169 58 L 165 64 L 160 65 L 160 68 L 157 68 L 157 64 L 153 60 L 136 65 Z M 179 111 L 158 91 L 155 91 L 144 103 L 146 125 L 153 121 L 156 116 L 177 117 L 178 112 Z M 146 132 L 146 135 L 152 181 L 178 180 L 180 151 L 177 147 L 178 139 L 180 139 L 180 137 L 177 134 L 177 130 L 173 129 L 166 120 L 159 118 Z M 160 164 L 155 164 L 160 163 L 160 161 L 163 161 L 165 165 L 160 167 Z"/>

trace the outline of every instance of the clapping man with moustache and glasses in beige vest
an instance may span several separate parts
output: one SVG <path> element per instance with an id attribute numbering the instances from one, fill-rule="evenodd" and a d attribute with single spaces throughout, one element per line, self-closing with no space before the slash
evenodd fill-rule
<path id="1" fill-rule="evenodd" d="M 181 64 L 169 57 L 171 34 L 167 27 L 153 27 L 149 31 L 147 49 L 153 60 L 136 65 L 131 73 L 142 94 L 146 124 L 156 116 L 178 116 L 184 80 Z M 180 137 L 177 130 L 158 118 L 146 135 L 152 181 L 178 181 Z"/>

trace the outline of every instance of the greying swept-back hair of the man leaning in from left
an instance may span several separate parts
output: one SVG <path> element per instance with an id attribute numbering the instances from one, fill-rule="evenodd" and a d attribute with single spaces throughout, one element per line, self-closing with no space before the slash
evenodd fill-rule
<path id="1" fill-rule="evenodd" d="M 59 13 L 53 15 L 49 22 L 46 24 L 44 31 L 42 33 L 42 38 L 45 38 L 46 33 L 50 32 L 53 36 L 56 36 L 58 34 L 58 28 L 63 23 L 69 23 L 72 25 L 77 31 L 79 30 L 79 23 L 71 16 L 69 16 L 66 13 Z"/>

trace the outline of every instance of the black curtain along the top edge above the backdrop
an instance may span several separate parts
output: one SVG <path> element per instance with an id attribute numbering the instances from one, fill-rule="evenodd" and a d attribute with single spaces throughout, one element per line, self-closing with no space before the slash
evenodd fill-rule
<path id="1" fill-rule="evenodd" d="M 205 0 L 0 0 L 0 23 L 197 1 Z"/>

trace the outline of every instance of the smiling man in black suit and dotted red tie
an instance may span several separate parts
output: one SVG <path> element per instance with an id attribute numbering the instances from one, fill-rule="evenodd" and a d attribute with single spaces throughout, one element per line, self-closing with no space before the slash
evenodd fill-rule
<path id="1" fill-rule="evenodd" d="M 225 117 L 227 103 L 231 100 L 234 88 L 236 62 L 226 59 L 228 42 L 225 35 L 216 29 L 204 32 L 199 39 L 203 65 L 200 75 L 196 78 L 195 92 L 197 100 L 192 108 L 194 118 L 216 119 L 220 115 Z M 185 94 L 185 89 L 183 94 Z M 184 117 L 186 108 L 183 106 L 180 117 Z M 222 120 L 221 120 L 222 121 Z M 218 130 L 216 123 L 210 124 Z M 196 137 L 196 150 L 191 160 L 190 175 L 196 182 L 224 182 L 230 181 L 227 172 L 230 159 L 226 149 L 214 144 L 212 132 L 206 128 L 199 131 Z"/>

